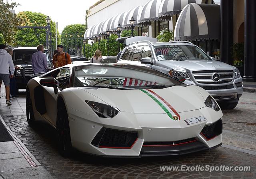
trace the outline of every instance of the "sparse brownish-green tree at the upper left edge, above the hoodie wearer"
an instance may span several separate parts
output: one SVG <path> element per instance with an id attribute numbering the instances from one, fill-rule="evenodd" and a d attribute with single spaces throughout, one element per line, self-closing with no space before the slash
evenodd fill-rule
<path id="1" fill-rule="evenodd" d="M 14 45 L 14 34 L 20 22 L 20 18 L 10 10 L 16 8 L 19 4 L 15 2 L 0 0 L 0 41 L 2 43 Z"/>

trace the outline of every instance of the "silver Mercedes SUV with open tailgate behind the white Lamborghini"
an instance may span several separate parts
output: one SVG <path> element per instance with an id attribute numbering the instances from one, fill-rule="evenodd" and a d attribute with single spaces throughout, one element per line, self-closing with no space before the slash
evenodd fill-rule
<path id="1" fill-rule="evenodd" d="M 157 42 L 141 36 L 120 42 L 126 46 L 118 63 L 146 65 L 172 77 L 183 77 L 184 84 L 208 91 L 222 109 L 233 109 L 238 104 L 243 92 L 239 70 L 216 61 L 191 42 Z"/>

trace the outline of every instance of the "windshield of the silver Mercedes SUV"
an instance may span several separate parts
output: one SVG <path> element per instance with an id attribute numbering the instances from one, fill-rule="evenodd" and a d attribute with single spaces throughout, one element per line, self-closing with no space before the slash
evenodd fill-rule
<path id="1" fill-rule="evenodd" d="M 211 60 L 196 46 L 155 46 L 155 52 L 158 60 Z"/>

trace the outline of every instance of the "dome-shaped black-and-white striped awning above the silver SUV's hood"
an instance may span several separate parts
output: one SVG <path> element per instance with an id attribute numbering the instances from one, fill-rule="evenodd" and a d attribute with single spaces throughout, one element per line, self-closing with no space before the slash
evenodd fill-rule
<path id="1" fill-rule="evenodd" d="M 220 6 L 191 3 L 177 20 L 174 40 L 220 40 Z"/>

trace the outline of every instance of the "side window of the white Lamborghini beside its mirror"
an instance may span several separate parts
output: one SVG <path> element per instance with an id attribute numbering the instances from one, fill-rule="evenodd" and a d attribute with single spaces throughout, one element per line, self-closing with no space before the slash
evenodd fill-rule
<path id="1" fill-rule="evenodd" d="M 57 86 L 60 90 L 63 90 L 68 87 L 68 81 L 70 77 L 70 69 L 69 68 L 63 68 L 58 73 L 56 80 L 58 82 Z"/>

